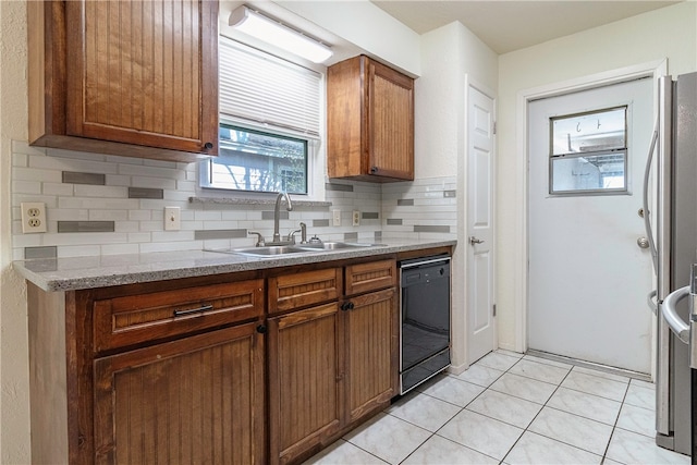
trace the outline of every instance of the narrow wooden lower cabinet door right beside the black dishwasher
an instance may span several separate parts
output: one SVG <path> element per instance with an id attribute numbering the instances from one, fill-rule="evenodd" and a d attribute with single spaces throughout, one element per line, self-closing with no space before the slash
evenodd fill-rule
<path id="1" fill-rule="evenodd" d="M 399 311 L 394 287 L 352 297 L 346 316 L 348 423 L 399 394 Z"/>

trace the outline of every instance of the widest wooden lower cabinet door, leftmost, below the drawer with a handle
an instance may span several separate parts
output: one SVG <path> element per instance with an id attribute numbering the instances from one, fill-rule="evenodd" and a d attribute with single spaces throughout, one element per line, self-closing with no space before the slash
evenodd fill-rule
<path id="1" fill-rule="evenodd" d="M 257 325 L 96 359 L 95 463 L 264 464 Z"/>

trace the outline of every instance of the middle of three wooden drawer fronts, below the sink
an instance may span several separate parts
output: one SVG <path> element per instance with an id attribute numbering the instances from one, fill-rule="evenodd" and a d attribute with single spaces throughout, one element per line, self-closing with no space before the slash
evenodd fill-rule
<path id="1" fill-rule="evenodd" d="M 270 278 L 269 313 L 335 301 L 341 295 L 341 268 Z"/>

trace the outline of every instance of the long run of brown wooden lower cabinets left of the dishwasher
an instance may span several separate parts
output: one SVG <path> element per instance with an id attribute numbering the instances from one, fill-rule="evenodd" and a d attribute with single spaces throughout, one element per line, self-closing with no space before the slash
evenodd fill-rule
<path id="1" fill-rule="evenodd" d="M 398 394 L 395 274 L 392 257 L 29 284 L 33 462 L 299 463 Z"/>

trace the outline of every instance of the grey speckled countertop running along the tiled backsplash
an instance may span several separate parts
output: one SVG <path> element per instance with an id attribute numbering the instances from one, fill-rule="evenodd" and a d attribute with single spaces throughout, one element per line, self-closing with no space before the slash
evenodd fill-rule
<path id="1" fill-rule="evenodd" d="M 383 242 L 381 245 L 370 247 L 321 253 L 308 252 L 270 258 L 217 252 L 176 250 L 152 254 L 20 260 L 14 261 L 12 266 L 27 281 L 44 291 L 75 291 L 398 254 L 454 246 L 457 243 L 456 241 Z"/>

